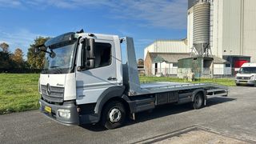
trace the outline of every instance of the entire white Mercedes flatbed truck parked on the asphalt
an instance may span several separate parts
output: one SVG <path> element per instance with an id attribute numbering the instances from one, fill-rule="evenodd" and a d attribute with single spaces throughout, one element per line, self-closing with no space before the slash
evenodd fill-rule
<path id="1" fill-rule="evenodd" d="M 126 64 L 121 43 L 126 42 Z M 38 89 L 40 110 L 65 125 L 101 123 L 122 126 L 126 118 L 156 106 L 191 102 L 194 109 L 207 98 L 227 96 L 226 86 L 209 83 L 139 83 L 133 38 L 67 33 L 37 46 L 46 53 Z"/>

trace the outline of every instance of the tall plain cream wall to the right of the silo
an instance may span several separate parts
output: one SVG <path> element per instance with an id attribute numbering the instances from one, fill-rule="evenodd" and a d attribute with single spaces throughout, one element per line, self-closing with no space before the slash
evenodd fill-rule
<path id="1" fill-rule="evenodd" d="M 256 62 L 255 23 L 255 0 L 214 0 L 213 54 L 246 55 Z"/>

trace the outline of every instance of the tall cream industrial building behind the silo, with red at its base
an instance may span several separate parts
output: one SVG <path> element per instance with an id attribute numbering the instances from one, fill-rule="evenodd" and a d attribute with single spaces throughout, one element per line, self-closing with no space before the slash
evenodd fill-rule
<path id="1" fill-rule="evenodd" d="M 210 50 L 224 58 L 231 67 L 241 62 L 256 62 L 256 1 L 255 0 L 188 0 L 188 48 L 194 42 L 194 14 L 198 2 L 210 5 Z"/>

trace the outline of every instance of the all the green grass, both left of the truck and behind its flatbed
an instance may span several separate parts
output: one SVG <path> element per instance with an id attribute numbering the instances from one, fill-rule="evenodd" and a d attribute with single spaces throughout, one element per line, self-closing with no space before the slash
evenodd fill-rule
<path id="1" fill-rule="evenodd" d="M 0 114 L 38 109 L 39 74 L 0 74 Z M 186 82 L 179 78 L 140 77 L 141 82 Z M 234 86 L 233 79 L 202 78 L 196 82 L 214 82 Z"/>

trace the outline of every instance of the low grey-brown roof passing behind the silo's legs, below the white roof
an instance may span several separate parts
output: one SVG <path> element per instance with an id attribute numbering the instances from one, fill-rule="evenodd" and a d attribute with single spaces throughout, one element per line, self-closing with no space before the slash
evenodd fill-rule
<path id="1" fill-rule="evenodd" d="M 148 53 L 152 62 L 177 63 L 178 59 L 191 58 L 190 53 Z M 226 60 L 213 56 L 214 63 L 226 63 Z"/>

